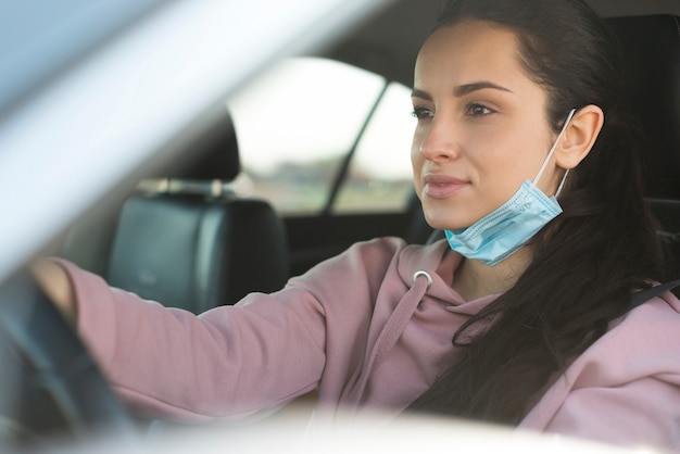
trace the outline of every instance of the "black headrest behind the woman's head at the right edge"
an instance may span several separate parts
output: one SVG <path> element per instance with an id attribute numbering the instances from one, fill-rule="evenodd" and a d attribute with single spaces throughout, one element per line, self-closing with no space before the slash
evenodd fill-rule
<path id="1" fill-rule="evenodd" d="M 625 80 L 648 136 L 646 197 L 680 199 L 680 22 L 673 15 L 608 20 Z"/>

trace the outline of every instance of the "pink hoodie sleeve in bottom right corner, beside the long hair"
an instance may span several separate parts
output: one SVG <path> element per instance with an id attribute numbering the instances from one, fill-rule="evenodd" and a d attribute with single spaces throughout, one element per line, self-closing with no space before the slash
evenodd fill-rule
<path id="1" fill-rule="evenodd" d="M 680 450 L 680 302 L 630 312 L 579 356 L 520 426 Z"/>

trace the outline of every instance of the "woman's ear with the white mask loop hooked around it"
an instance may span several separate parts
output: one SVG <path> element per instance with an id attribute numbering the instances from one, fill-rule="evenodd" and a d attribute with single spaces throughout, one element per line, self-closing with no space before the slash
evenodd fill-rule
<path id="1" fill-rule="evenodd" d="M 604 112 L 589 104 L 571 117 L 555 150 L 555 163 L 562 168 L 574 168 L 588 155 L 604 124 Z"/>

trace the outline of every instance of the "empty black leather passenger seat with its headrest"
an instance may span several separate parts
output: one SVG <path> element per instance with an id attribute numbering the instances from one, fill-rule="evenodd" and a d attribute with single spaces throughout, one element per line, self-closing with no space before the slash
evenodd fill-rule
<path id="1" fill-rule="evenodd" d="M 190 162 L 142 180 L 113 223 L 99 222 L 96 234 L 89 226 L 89 238 L 73 229 L 62 255 L 114 287 L 194 313 L 282 288 L 284 225 L 267 202 L 230 189 L 240 162 L 234 126 L 223 119 L 191 146 Z"/>

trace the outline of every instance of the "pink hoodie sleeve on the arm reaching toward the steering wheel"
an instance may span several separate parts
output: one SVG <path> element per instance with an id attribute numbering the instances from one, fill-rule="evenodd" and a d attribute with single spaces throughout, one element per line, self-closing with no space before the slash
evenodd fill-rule
<path id="1" fill-rule="evenodd" d="M 395 239 L 355 244 L 281 291 L 251 293 L 200 316 L 60 263 L 73 283 L 79 335 L 124 400 L 154 416 L 243 419 L 322 379 L 325 389 L 342 389 L 372 298 L 401 248 Z"/>

